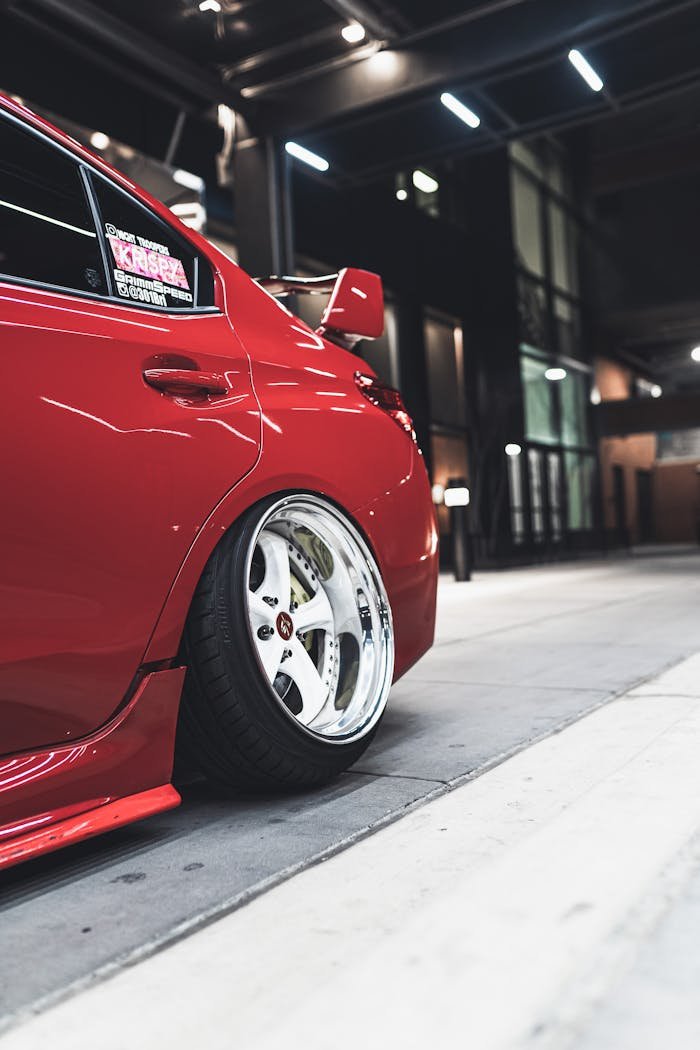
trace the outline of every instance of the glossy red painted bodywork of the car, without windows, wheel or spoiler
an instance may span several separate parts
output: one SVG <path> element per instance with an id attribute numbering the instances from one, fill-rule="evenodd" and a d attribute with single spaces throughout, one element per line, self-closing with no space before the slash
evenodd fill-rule
<path id="1" fill-rule="evenodd" d="M 9 99 L 3 111 L 187 238 L 215 308 L 0 276 L 0 867 L 177 804 L 184 623 L 218 539 L 259 499 L 323 494 L 360 527 L 391 605 L 395 677 L 432 642 L 437 581 L 422 458 L 358 390 L 366 365 L 103 161 Z M 181 365 L 224 376 L 226 393 L 167 397 L 144 380 Z"/>

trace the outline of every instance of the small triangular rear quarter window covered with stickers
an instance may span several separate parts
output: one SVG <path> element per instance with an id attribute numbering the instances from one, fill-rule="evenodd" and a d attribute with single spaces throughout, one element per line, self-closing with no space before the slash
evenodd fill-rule
<path id="1" fill-rule="evenodd" d="M 92 186 L 119 299 L 179 310 L 213 306 L 211 269 L 184 238 L 105 180 L 93 176 Z"/>

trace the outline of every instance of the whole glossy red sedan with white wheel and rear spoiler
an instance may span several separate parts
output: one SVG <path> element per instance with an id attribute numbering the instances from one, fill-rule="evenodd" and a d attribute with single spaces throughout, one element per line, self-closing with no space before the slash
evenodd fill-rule
<path id="1" fill-rule="evenodd" d="M 264 281 L 261 284 L 266 284 Z M 0 867 L 228 789 L 321 783 L 432 642 L 437 531 L 396 391 L 0 98 Z"/>

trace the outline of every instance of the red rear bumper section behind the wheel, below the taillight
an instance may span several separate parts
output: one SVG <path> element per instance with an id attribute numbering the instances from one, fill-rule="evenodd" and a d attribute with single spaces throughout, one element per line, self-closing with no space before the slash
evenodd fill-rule
<path id="1" fill-rule="evenodd" d="M 438 525 L 418 450 L 410 474 L 355 517 L 372 543 L 391 606 L 396 681 L 427 652 L 436 630 Z"/>

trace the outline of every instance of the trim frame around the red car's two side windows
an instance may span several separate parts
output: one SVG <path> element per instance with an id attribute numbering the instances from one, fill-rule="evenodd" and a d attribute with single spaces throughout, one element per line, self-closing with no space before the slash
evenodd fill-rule
<path id="1" fill-rule="evenodd" d="M 16 117 L 15 113 L 8 112 L 6 109 L 0 107 L 0 121 L 7 121 L 9 124 L 15 125 L 21 131 L 26 134 L 31 134 L 36 139 L 39 139 L 42 143 L 49 147 L 49 149 L 56 149 L 64 156 L 67 156 L 69 161 L 76 166 L 77 175 L 79 182 L 82 186 L 83 192 L 86 198 L 87 214 L 92 222 L 94 233 L 98 239 L 98 245 L 100 247 L 100 257 L 102 259 L 103 266 L 103 276 L 105 278 L 105 285 L 108 289 L 107 293 L 100 294 L 99 292 L 87 292 L 78 288 L 69 288 L 65 285 L 54 285 L 48 281 L 33 280 L 30 277 L 20 277 L 17 274 L 5 274 L 0 270 L 0 284 L 7 285 L 19 285 L 23 288 L 45 290 L 47 292 L 56 292 L 60 295 L 69 295 L 72 298 L 87 299 L 90 302 L 107 302 L 110 304 L 116 304 L 123 307 L 126 310 L 146 310 L 148 313 L 157 314 L 176 314 L 176 315 L 187 315 L 192 314 L 220 314 L 221 310 L 216 306 L 211 307 L 200 307 L 197 304 L 197 296 L 199 294 L 199 266 L 204 260 L 207 266 L 212 270 L 212 279 L 215 281 L 215 271 L 214 267 L 210 262 L 209 258 L 201 252 L 199 248 L 188 240 L 187 236 L 182 234 L 179 230 L 162 218 L 156 212 L 154 212 L 147 204 L 141 201 L 137 196 L 131 194 L 123 186 L 120 186 L 113 178 L 111 178 L 105 172 L 100 171 L 94 165 L 83 158 L 78 156 L 71 150 L 67 149 L 63 143 L 57 142 L 50 135 L 46 134 L 39 128 L 35 128 L 31 124 L 26 121 L 21 120 L 21 118 Z M 141 208 L 142 211 L 155 222 L 158 226 L 163 227 L 168 231 L 169 235 L 175 240 L 179 242 L 189 252 L 194 255 L 194 292 L 193 298 L 194 303 L 191 307 L 158 307 L 152 302 L 131 302 L 128 299 L 123 299 L 118 296 L 114 292 L 114 278 L 110 262 L 109 262 L 109 252 L 107 247 L 107 240 L 105 237 L 105 232 L 102 223 L 102 211 L 100 209 L 100 202 L 98 201 L 97 190 L 92 185 L 92 176 L 102 178 L 111 189 L 121 193 L 128 202 L 136 207 Z"/>

